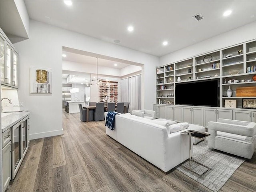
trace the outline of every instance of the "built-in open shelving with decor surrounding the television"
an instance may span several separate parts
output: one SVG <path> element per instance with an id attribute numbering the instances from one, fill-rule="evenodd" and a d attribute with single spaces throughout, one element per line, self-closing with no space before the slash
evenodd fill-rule
<path id="1" fill-rule="evenodd" d="M 242 108 L 242 99 L 256 97 L 238 97 L 239 87 L 256 86 L 256 40 L 251 40 L 193 58 L 156 67 L 156 103 L 175 104 L 175 84 L 186 81 L 219 79 L 220 107 L 225 99 L 234 99 L 237 108 Z M 237 83 L 228 83 L 238 80 Z M 226 91 L 232 90 L 228 97 Z"/>

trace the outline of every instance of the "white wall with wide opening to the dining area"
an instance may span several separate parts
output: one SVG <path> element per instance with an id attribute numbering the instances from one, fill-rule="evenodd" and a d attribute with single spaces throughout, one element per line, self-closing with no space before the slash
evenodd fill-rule
<path id="1" fill-rule="evenodd" d="M 153 109 L 155 94 L 155 66 L 159 58 L 116 44 L 30 20 L 30 38 L 14 44 L 19 53 L 19 99 L 31 111 L 30 138 L 62 134 L 62 46 L 144 64 L 142 108 Z M 30 67 L 52 69 L 52 94 L 30 94 Z"/>

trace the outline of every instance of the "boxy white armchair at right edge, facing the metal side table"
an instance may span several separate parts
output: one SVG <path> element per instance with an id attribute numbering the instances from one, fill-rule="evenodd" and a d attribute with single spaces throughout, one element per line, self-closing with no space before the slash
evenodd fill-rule
<path id="1" fill-rule="evenodd" d="M 208 122 L 208 147 L 252 158 L 256 147 L 256 123 L 218 119 Z"/>

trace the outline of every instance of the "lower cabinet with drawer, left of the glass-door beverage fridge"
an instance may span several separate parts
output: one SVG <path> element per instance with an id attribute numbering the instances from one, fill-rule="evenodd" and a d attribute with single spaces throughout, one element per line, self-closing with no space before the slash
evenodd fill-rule
<path id="1" fill-rule="evenodd" d="M 5 191 L 11 180 L 11 130 L 10 128 L 2 133 L 2 170 L 3 190 Z"/>

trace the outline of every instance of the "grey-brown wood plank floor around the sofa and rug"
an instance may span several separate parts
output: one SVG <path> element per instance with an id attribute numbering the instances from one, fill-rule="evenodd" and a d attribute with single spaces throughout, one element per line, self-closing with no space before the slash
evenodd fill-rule
<path id="1" fill-rule="evenodd" d="M 81 122 L 63 111 L 64 135 L 30 141 L 24 161 L 7 192 L 209 192 L 173 169 L 164 174 L 112 138 L 104 121 Z M 256 189 L 256 153 L 221 192 Z"/>

